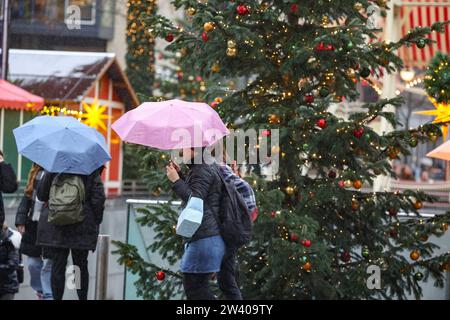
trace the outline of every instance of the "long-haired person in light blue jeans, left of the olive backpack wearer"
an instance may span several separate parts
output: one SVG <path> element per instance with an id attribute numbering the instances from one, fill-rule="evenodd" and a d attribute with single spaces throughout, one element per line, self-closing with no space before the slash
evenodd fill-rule
<path id="1" fill-rule="evenodd" d="M 16 227 L 22 234 L 20 253 L 28 256 L 30 285 L 40 300 L 53 300 L 51 288 L 52 260 L 48 250 L 36 245 L 37 227 L 43 202 L 37 197 L 37 188 L 44 170 L 33 164 L 28 182 L 16 214 Z"/>

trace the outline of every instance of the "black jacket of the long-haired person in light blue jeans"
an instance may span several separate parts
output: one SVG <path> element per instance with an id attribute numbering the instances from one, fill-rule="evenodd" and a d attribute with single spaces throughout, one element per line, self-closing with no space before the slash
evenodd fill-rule
<path id="1" fill-rule="evenodd" d="M 36 245 L 37 238 L 37 221 L 33 221 L 34 207 L 36 204 L 36 194 L 39 183 L 42 178 L 42 171 L 39 171 L 34 181 L 34 192 L 31 197 L 24 195 L 20 201 L 16 213 L 16 227 L 18 225 L 25 225 L 25 233 L 22 235 L 22 242 L 20 244 L 20 253 L 29 257 L 40 257 L 42 255 L 42 248 Z"/>

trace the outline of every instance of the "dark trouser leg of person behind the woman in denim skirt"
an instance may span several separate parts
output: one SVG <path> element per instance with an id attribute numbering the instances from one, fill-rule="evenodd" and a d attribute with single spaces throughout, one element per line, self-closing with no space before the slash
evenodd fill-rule
<path id="1" fill-rule="evenodd" d="M 217 283 L 227 300 L 242 300 L 241 290 L 236 282 L 237 248 L 226 247 Z"/>

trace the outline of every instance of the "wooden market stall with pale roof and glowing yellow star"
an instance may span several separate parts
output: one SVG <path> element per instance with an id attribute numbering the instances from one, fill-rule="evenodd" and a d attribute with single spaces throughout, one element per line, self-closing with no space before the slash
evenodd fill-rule
<path id="1" fill-rule="evenodd" d="M 136 107 L 138 98 L 115 54 L 12 49 L 9 68 L 11 81 L 45 99 L 42 110 L 30 113 L 24 121 L 33 115 L 69 115 L 105 136 L 112 156 L 103 176 L 105 189 L 109 196 L 120 195 L 123 148 L 121 140 L 111 130 L 111 124 Z M 16 118 L 11 113 L 5 114 L 6 131 L 10 132 L 24 122 Z M 4 145 L 8 147 L 8 153 L 15 150 L 18 157 L 12 139 L 12 133 L 5 135 Z M 24 180 L 27 172 L 22 171 L 20 179 Z"/>

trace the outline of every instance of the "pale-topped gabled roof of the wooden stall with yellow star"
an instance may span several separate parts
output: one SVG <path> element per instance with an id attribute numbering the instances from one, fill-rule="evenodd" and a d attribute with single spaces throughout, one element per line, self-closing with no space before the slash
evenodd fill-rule
<path id="1" fill-rule="evenodd" d="M 11 49 L 10 79 L 46 101 L 82 101 L 105 73 L 127 108 L 139 104 L 116 56 L 105 52 Z"/>

